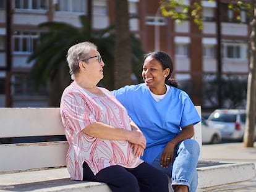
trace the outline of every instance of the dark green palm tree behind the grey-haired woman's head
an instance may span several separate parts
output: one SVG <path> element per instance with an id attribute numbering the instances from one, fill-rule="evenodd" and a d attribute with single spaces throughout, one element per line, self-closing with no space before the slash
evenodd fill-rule
<path id="1" fill-rule="evenodd" d="M 90 21 L 85 16 L 80 16 L 82 28 L 62 22 L 45 22 L 40 28 L 47 28 L 46 33 L 40 36 L 40 46 L 28 58 L 28 62 L 35 61 L 31 74 L 35 85 L 49 83 L 49 100 L 51 107 L 59 106 L 61 93 L 69 85 L 69 69 L 66 64 L 66 54 L 70 46 L 82 41 L 92 41 L 98 46 L 105 66 L 105 78 L 101 82 L 106 88 L 113 85 L 114 64 L 114 36 L 109 33 L 113 26 L 99 31 L 91 31 Z"/>

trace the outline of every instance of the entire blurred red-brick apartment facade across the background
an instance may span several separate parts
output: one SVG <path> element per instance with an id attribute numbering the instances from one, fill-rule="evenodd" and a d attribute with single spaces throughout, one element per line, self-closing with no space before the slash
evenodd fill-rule
<path id="1" fill-rule="evenodd" d="M 203 99 L 202 88 L 207 77 L 233 74 L 247 78 L 250 25 L 246 10 L 242 10 L 241 23 L 236 13 L 228 9 L 229 1 L 221 1 L 220 27 L 217 22 L 217 3 L 202 1 L 203 30 L 192 20 L 177 24 L 161 16 L 158 0 L 129 0 L 130 31 L 137 34 L 143 49 L 167 52 L 174 62 L 173 77 L 182 85 L 189 85 L 195 104 L 211 107 Z M 191 2 L 185 0 L 184 4 Z M 93 28 L 105 28 L 114 22 L 114 0 L 93 0 Z M 12 99 L 13 107 L 46 107 L 47 88 L 33 88 L 28 73 L 33 63 L 27 64 L 38 40 L 39 23 L 67 22 L 80 27 L 79 15 L 87 15 L 86 0 L 12 0 Z M 6 1 L 0 0 L 0 69 L 6 66 Z M 218 39 L 218 30 L 221 42 Z M 220 45 L 221 44 L 221 45 Z M 221 64 L 218 48 L 221 47 Z M 0 107 L 4 106 L 4 80 L 6 72 L 0 70 Z M 194 84 L 193 84 L 194 83 Z M 216 99 L 216 98 L 215 98 Z"/>

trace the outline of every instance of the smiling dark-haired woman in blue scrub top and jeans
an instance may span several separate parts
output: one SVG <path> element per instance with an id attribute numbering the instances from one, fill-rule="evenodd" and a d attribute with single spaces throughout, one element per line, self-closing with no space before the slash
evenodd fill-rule
<path id="1" fill-rule="evenodd" d="M 145 83 L 113 91 L 129 116 L 142 130 L 147 147 L 142 159 L 172 177 L 174 191 L 195 192 L 200 152 L 192 140 L 200 117 L 191 99 L 170 79 L 173 62 L 165 52 L 145 55 Z"/>

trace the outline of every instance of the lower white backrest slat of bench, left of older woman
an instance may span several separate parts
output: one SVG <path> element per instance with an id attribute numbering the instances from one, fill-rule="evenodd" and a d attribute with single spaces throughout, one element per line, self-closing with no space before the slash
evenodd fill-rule
<path id="1" fill-rule="evenodd" d="M 67 141 L 0 144 L 0 173 L 66 166 Z"/>

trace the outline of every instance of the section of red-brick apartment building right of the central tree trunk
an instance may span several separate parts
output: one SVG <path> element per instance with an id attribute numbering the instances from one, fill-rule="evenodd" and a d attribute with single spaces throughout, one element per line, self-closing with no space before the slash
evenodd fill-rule
<path id="1" fill-rule="evenodd" d="M 191 5 L 192 2 L 185 0 L 184 4 Z M 250 23 L 247 10 L 241 9 L 237 13 L 228 9 L 231 1 L 219 2 L 202 1 L 203 30 L 198 30 L 192 19 L 178 24 L 162 17 L 158 1 L 140 1 L 143 48 L 168 52 L 174 62 L 173 77 L 183 86 L 189 85 L 192 101 L 206 108 L 212 107 L 209 99 L 203 97 L 207 79 L 216 78 L 221 73 L 223 77 L 234 75 L 246 80 L 249 70 Z M 237 14 L 241 16 L 241 22 L 237 21 Z M 216 103 L 217 94 L 210 98 Z"/>

